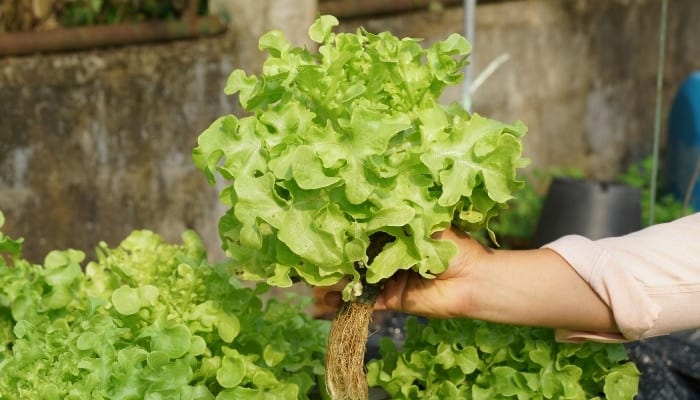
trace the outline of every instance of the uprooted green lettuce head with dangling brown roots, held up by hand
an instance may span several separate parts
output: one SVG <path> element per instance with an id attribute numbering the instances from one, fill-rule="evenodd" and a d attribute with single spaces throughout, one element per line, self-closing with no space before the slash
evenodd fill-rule
<path id="1" fill-rule="evenodd" d="M 432 235 L 451 224 L 493 233 L 489 221 L 521 185 L 526 128 L 439 103 L 467 64 L 460 35 L 424 48 L 388 32 L 336 34 L 337 24 L 322 16 L 310 27 L 318 52 L 263 35 L 262 74 L 235 70 L 225 88 L 250 115 L 214 121 L 193 160 L 225 182 L 220 234 L 244 279 L 350 281 L 327 382 L 336 398 L 364 398 L 381 282 L 405 269 L 443 272 L 456 249 Z"/>

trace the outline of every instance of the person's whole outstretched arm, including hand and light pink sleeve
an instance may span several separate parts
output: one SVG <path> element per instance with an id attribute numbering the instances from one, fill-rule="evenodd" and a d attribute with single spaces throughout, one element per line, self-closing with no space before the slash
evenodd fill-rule
<path id="1" fill-rule="evenodd" d="M 463 232 L 447 271 L 400 271 L 380 309 L 576 331 L 560 340 L 635 340 L 700 326 L 700 213 L 619 238 L 567 236 L 547 248 L 490 250 Z"/>

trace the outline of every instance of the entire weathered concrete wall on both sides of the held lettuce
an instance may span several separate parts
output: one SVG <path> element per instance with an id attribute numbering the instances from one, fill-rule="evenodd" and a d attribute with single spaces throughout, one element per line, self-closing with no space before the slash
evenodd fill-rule
<path id="1" fill-rule="evenodd" d="M 53 248 L 91 251 L 133 229 L 177 240 L 194 228 L 217 255 L 221 207 L 190 160 L 197 135 L 237 110 L 222 93 L 235 67 L 259 68 L 257 37 L 280 28 L 303 44 L 315 2 L 212 0 L 231 16 L 220 37 L 0 59 L 3 229 L 40 261 Z M 700 68 L 700 3 L 670 3 L 664 81 L 672 93 Z M 478 7 L 475 70 L 504 64 L 477 92 L 476 111 L 529 127 L 537 166 L 609 177 L 650 151 L 658 0 L 528 0 Z M 223 10 L 223 11 L 222 11 Z M 228 11 L 226 11 L 228 10 Z M 460 7 L 348 19 L 428 41 L 461 31 Z M 449 94 L 458 98 L 459 88 Z M 220 254 L 218 255 L 220 256 Z"/>

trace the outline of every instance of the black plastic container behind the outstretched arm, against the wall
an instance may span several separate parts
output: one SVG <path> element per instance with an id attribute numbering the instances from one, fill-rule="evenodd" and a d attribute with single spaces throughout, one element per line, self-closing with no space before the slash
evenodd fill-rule
<path id="1" fill-rule="evenodd" d="M 641 228 L 641 193 L 620 183 L 554 178 L 542 206 L 532 247 L 568 234 L 589 239 L 620 236 Z"/>

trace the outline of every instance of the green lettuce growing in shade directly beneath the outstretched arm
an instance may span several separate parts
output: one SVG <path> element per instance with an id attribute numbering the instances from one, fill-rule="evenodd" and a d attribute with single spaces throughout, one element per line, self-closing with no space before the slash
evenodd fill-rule
<path id="1" fill-rule="evenodd" d="M 632 399 L 639 371 L 621 345 L 557 343 L 551 329 L 476 320 L 407 325 L 401 350 L 381 343 L 371 386 L 392 399 Z"/>

